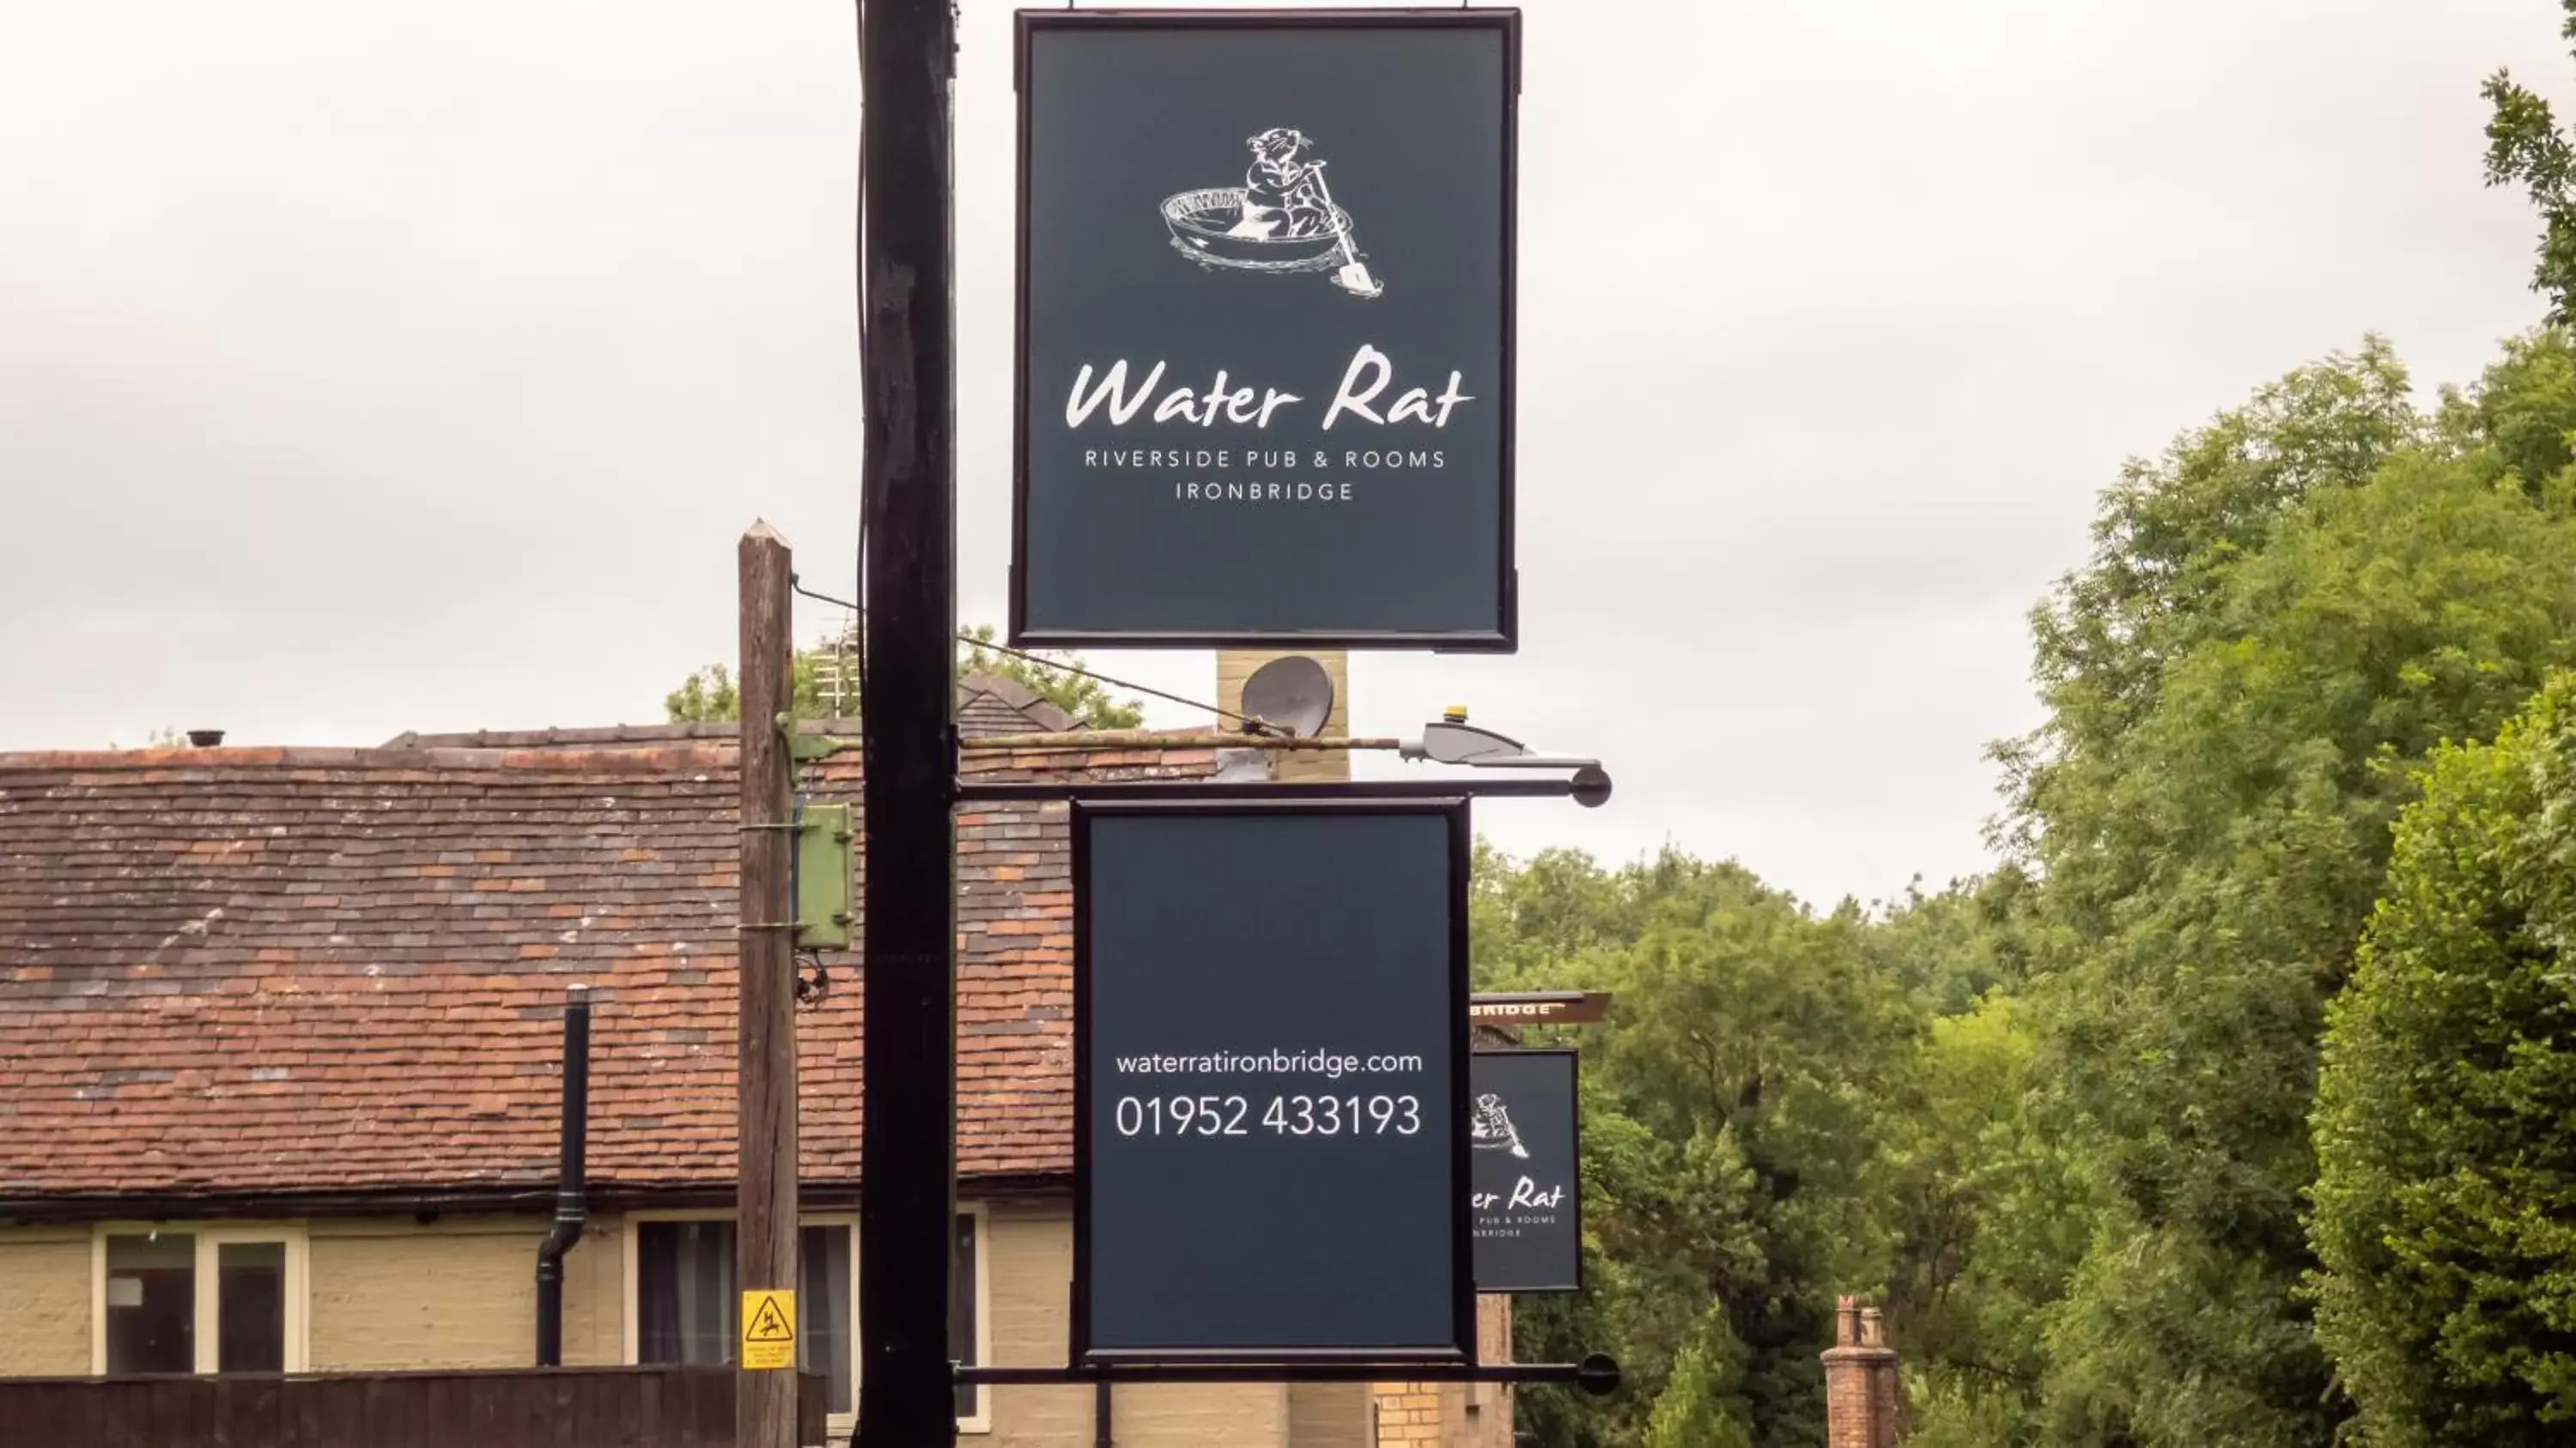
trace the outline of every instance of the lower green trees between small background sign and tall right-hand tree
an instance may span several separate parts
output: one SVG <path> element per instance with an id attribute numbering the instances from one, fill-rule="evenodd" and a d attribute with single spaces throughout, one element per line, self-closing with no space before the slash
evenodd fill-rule
<path id="1" fill-rule="evenodd" d="M 1816 915 L 1731 863 L 1479 850 L 1481 987 L 1615 992 L 1584 1049 L 1587 1291 L 1515 1304 L 1525 1358 L 1613 1350 L 1607 1402 L 1525 1389 L 1551 1448 L 1821 1443 L 1837 1291 L 1880 1288 L 1922 1427 L 2020 1433 L 2084 1247 L 2025 1108 L 2020 873 Z M 1994 1224 L 1994 1226 L 1989 1226 Z"/>

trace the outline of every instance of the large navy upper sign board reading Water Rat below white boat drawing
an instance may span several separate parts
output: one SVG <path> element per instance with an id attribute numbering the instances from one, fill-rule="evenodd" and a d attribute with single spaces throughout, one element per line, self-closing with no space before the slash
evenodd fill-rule
<path id="1" fill-rule="evenodd" d="M 1020 13 L 1012 642 L 1515 647 L 1517 46 Z"/>

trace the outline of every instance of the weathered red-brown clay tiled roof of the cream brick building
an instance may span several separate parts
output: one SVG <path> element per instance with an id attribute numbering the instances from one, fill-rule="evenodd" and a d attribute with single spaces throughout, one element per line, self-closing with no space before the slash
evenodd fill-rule
<path id="1" fill-rule="evenodd" d="M 0 755 L 0 1216 L 80 1196 L 554 1177 L 564 987 L 595 987 L 590 1177 L 734 1172 L 734 750 Z M 714 732 L 714 729 L 706 729 Z M 1208 755 L 969 755 L 1203 776 Z M 858 757 L 806 776 L 858 799 Z M 1072 1167 L 1061 804 L 958 819 L 958 1170 Z M 855 961 L 799 1015 L 806 1183 L 858 1175 Z"/>

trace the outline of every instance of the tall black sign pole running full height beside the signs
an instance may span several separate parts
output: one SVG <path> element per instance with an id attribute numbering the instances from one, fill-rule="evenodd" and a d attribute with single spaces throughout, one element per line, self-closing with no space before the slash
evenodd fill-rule
<path id="1" fill-rule="evenodd" d="M 860 1448 L 956 1443 L 956 296 L 948 0 L 858 13 L 866 657 L 860 665 Z"/>

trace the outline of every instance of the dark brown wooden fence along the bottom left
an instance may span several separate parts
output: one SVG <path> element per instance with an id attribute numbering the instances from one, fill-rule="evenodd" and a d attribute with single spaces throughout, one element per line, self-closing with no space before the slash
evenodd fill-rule
<path id="1" fill-rule="evenodd" d="M 796 1384 L 824 1440 L 827 1384 Z M 0 1378 L 0 1448 L 734 1448 L 732 1368 Z"/>

